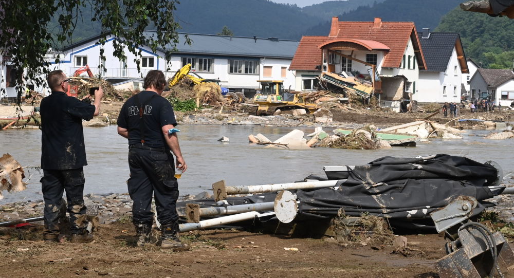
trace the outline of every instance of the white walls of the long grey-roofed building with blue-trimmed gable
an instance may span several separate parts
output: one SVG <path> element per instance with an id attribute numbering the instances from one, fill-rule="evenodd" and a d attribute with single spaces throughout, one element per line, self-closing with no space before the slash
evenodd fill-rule
<path id="1" fill-rule="evenodd" d="M 164 53 L 160 51 L 154 53 L 145 46 L 140 48 L 142 52 L 140 57 L 136 57 L 125 47 L 124 53 L 127 55 L 127 60 L 126 66 L 123 66 L 122 62 L 113 55 L 114 40 L 116 38 L 109 36 L 103 46 L 96 44 L 95 40 L 69 49 L 61 54 L 61 62 L 56 65 L 56 68 L 63 70 L 67 76 L 73 76 L 75 70 L 87 64 L 94 75 L 98 76 L 98 67 L 101 62 L 100 49 L 103 48 L 105 55 L 104 66 L 107 71 L 101 73 L 102 78 L 140 79 L 144 78 L 146 72 L 152 69 L 162 70 L 166 73 L 167 78 L 170 78 L 183 66 L 182 58 L 189 58 L 186 61 L 195 61 L 195 65 L 192 68 L 193 72 L 196 72 L 201 78 L 221 80 L 220 85 L 222 87 L 254 89 L 259 87 L 259 83 L 256 82 L 257 80 L 272 79 L 283 80 L 285 88 L 291 86 L 291 89 L 295 89 L 295 76 L 293 72 L 288 70 L 291 59 L 217 57 L 213 55 L 176 53 L 170 61 L 170 70 L 166 71 L 166 60 L 162 58 Z M 137 71 L 137 66 L 134 62 L 136 58 L 141 60 L 141 72 Z M 209 67 L 204 67 L 204 70 L 200 70 L 199 60 L 205 61 L 204 65 L 209 63 Z M 230 72 L 231 60 L 243 64 L 250 61 L 250 64 L 255 65 L 255 68 L 250 70 L 250 73 L 245 73 L 244 71 L 241 73 Z M 271 75 L 264 76 L 265 72 L 271 72 Z M 82 73 L 82 76 L 84 75 L 85 73 Z"/>

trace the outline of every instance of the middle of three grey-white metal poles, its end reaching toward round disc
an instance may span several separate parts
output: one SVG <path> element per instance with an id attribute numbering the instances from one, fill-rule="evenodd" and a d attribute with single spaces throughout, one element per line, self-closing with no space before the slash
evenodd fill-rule
<path id="1" fill-rule="evenodd" d="M 273 202 L 248 203 L 246 205 L 200 208 L 196 203 L 186 204 L 186 218 L 189 223 L 199 223 L 200 217 L 235 214 L 249 211 L 273 210 Z"/>

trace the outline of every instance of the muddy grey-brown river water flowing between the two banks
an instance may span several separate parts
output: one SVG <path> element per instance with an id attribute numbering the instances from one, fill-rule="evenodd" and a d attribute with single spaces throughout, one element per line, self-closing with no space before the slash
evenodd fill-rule
<path id="1" fill-rule="evenodd" d="M 249 144 L 248 135 L 262 133 L 271 140 L 295 129 L 256 125 L 180 125 L 180 146 L 188 171 L 179 179 L 180 194 L 211 192 L 211 184 L 224 179 L 227 185 L 253 185 L 302 180 L 309 174 L 323 175 L 325 165 L 359 165 L 383 156 L 415 157 L 445 153 L 466 156 L 479 162 L 498 162 L 505 175 L 514 172 L 512 146 L 514 140 L 488 140 L 480 134 L 491 131 L 470 130 L 462 140 L 431 139 L 416 147 L 393 147 L 389 150 L 341 150 L 313 148 L 291 151 Z M 309 134 L 314 128 L 299 128 Z M 325 128 L 330 133 L 332 128 Z M 222 136 L 230 142 L 217 142 Z M 125 193 L 128 179 L 125 138 L 116 132 L 116 125 L 84 127 L 89 165 L 84 167 L 84 194 Z M 41 159 L 41 131 L 38 129 L 0 132 L 0 155 L 11 154 L 23 166 L 38 166 Z M 42 199 L 39 179 L 42 172 L 26 169 L 27 190 L 15 194 L 4 192 L 2 203 Z M 27 179 L 26 178 L 26 179 Z"/>

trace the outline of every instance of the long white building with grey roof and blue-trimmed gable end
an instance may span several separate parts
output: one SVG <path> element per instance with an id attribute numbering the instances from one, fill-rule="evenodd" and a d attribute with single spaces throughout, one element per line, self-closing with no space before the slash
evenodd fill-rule
<path id="1" fill-rule="evenodd" d="M 155 35 L 147 31 L 146 36 Z M 136 57 L 125 49 L 126 64 L 113 56 L 113 42 L 118 40 L 113 35 L 107 37 L 106 43 L 98 44 L 100 36 L 95 36 L 62 49 L 61 63 L 56 65 L 72 76 L 75 70 L 88 65 L 95 75 L 100 65 L 100 49 L 104 49 L 106 72 L 101 76 L 113 82 L 128 79 L 140 79 L 152 69 L 165 71 L 171 77 L 183 65 L 192 64 L 192 71 L 205 79 L 219 79 L 221 86 L 230 90 L 254 91 L 259 87 L 257 80 L 284 80 L 284 86 L 295 89 L 294 75 L 288 71 L 291 59 L 298 46 L 297 41 L 279 40 L 277 38 L 250 38 L 241 36 L 223 36 L 206 34 L 188 34 L 191 45 L 184 44 L 184 33 L 179 33 L 177 51 L 167 64 L 164 49 L 152 52 L 149 47 L 140 48 L 141 56 Z M 167 46 L 172 49 L 172 45 Z M 141 72 L 137 71 L 135 59 L 139 59 Z M 167 70 L 168 69 L 168 70 Z"/>

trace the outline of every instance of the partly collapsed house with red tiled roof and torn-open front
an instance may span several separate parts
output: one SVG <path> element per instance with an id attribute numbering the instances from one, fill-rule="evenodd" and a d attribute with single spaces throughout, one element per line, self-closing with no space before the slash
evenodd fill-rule
<path id="1" fill-rule="evenodd" d="M 427 68 L 413 22 L 345 22 L 332 17 L 328 36 L 303 36 L 292 59 L 296 89 L 319 82 L 366 93 L 388 106 L 415 100 L 419 70 Z"/>

